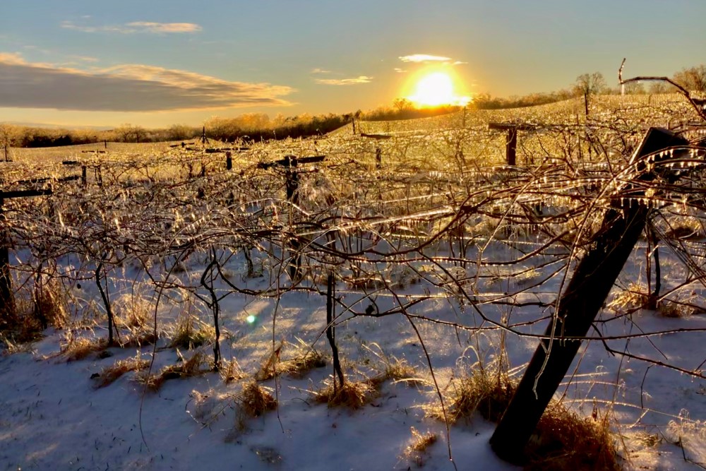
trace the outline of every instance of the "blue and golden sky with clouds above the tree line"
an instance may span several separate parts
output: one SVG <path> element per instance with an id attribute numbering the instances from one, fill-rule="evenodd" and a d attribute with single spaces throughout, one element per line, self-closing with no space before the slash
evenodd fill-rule
<path id="1" fill-rule="evenodd" d="M 706 0 L 1 0 L 0 122 L 198 126 L 706 63 Z"/>

